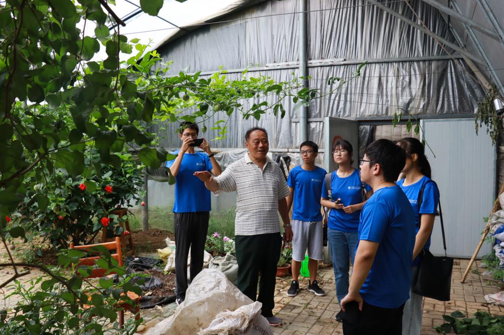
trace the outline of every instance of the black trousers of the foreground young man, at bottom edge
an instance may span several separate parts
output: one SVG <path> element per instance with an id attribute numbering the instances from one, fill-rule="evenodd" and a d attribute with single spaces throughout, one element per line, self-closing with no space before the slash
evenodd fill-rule
<path id="1" fill-rule="evenodd" d="M 350 308 L 349 308 L 350 307 Z M 343 318 L 344 335 L 401 335 L 404 304 L 397 308 L 383 308 L 364 302 L 362 312 L 357 304 L 348 306 L 350 322 Z"/>

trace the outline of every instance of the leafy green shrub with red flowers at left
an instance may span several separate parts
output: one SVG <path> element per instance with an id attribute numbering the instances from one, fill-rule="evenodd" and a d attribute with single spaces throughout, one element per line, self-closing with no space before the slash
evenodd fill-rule
<path id="1" fill-rule="evenodd" d="M 18 207 L 19 223 L 39 233 L 53 246 L 88 244 L 103 228 L 119 234 L 120 218 L 112 214 L 116 207 L 139 203 L 144 166 L 134 156 L 124 153 L 117 166 L 103 163 L 96 149 L 90 148 L 85 171 L 73 177 L 65 169 L 46 174 L 47 183 L 32 184 Z M 28 177 L 30 178 L 30 177 Z"/>

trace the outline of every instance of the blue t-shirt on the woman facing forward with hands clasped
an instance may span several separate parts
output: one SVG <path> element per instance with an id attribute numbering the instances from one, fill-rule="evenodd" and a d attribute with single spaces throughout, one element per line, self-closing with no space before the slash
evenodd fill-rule
<path id="1" fill-rule="evenodd" d="M 371 190 L 368 185 L 364 185 L 364 188 L 366 192 Z M 322 198 L 329 198 L 325 178 L 322 185 Z M 362 182 L 356 169 L 350 176 L 344 178 L 338 177 L 336 171 L 331 174 L 331 198 L 333 201 L 340 198 L 340 203 L 345 206 L 362 202 Z M 343 209 L 332 208 L 329 212 L 327 225 L 329 228 L 338 231 L 357 232 L 359 229 L 359 214 L 360 210 L 348 214 Z"/>

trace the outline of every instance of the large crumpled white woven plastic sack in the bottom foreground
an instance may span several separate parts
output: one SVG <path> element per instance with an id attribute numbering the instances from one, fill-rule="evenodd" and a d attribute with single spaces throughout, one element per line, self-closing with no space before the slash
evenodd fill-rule
<path id="1" fill-rule="evenodd" d="M 196 276 L 187 291 L 185 300 L 175 313 L 150 328 L 146 334 L 197 334 L 220 318 L 222 312 L 237 312 L 234 323 L 227 323 L 221 334 L 272 334 L 268 321 L 259 313 L 261 303 L 250 300 L 238 290 L 218 269 L 204 269 Z M 244 308 L 237 311 L 240 307 Z M 246 307 L 245 307 L 246 306 Z M 256 311 L 256 314 L 253 312 Z M 213 327 L 218 323 L 214 322 Z M 242 331 L 245 326 L 245 330 Z M 206 332 L 206 334 L 212 332 Z"/>

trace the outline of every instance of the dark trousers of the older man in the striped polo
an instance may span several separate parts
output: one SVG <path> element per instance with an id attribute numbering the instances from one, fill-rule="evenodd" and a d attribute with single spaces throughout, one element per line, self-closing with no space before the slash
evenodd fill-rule
<path id="1" fill-rule="evenodd" d="M 273 316 L 275 307 L 275 282 L 277 263 L 280 258 L 282 237 L 280 233 L 259 235 L 236 235 L 235 248 L 238 261 L 236 286 L 247 297 L 263 304 L 261 314 Z M 257 282 L 259 296 L 257 296 Z"/>

